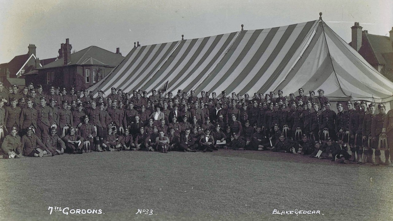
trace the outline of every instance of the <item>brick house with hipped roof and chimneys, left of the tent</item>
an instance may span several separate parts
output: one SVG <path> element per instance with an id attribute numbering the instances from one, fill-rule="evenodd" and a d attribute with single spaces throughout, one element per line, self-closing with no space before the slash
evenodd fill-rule
<path id="1" fill-rule="evenodd" d="M 113 53 L 90 46 L 72 54 L 71 49 L 69 39 L 66 39 L 66 43 L 61 44 L 57 60 L 25 74 L 26 83 L 40 84 L 44 91 L 51 86 L 82 90 L 99 82 L 124 59 L 119 48 Z"/>

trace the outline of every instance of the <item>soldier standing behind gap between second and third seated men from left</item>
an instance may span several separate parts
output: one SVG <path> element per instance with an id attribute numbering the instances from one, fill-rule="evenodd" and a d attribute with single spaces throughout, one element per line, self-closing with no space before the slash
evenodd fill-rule
<path id="1" fill-rule="evenodd" d="M 45 97 L 40 98 L 40 105 L 37 106 L 37 129 L 36 135 L 46 144 L 49 138 L 49 128 L 53 122 L 53 112 L 50 107 L 46 107 Z"/>

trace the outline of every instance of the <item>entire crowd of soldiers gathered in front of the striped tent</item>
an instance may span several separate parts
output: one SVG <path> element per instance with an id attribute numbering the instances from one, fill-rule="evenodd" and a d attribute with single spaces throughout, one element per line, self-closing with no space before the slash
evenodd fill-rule
<path id="1" fill-rule="evenodd" d="M 153 89 L 147 96 L 141 89 L 129 94 L 111 88 L 108 96 L 99 90 L 94 98 L 91 91 L 75 92 L 73 88 L 51 87 L 44 94 L 42 86 L 32 84 L 20 94 L 13 85 L 7 93 L 0 83 L 2 155 L 20 158 L 90 151 L 167 153 L 225 148 L 389 165 L 393 153 L 387 144 L 393 142 L 393 112 L 386 114 L 383 104 L 376 107 L 365 101 L 347 101 L 337 103 L 336 113 L 322 89 L 318 96 L 314 91 L 305 96 L 302 88 L 298 92 L 289 98 L 282 90 L 277 96 L 274 92 L 255 93 L 250 98 L 235 92 L 228 97 L 226 91 L 219 97 L 215 92 L 210 96 L 202 91 L 197 97 L 193 90 L 164 96 L 163 91 L 157 94 Z"/>

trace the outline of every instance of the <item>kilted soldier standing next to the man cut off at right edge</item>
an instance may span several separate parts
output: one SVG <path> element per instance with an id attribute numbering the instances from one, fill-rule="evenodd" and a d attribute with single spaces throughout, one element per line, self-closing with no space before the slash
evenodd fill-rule
<path id="1" fill-rule="evenodd" d="M 378 110 L 379 114 L 375 115 L 373 118 L 373 122 L 371 122 L 371 136 L 373 137 L 373 145 L 375 146 L 375 166 L 378 166 L 379 164 L 382 164 L 381 160 L 381 148 L 378 146 L 378 140 L 379 136 L 382 133 L 382 129 L 384 128 L 384 131 L 387 131 L 387 126 L 389 126 L 389 121 L 386 123 L 386 127 L 384 127 L 384 121 L 387 118 L 386 113 L 385 113 L 385 105 L 378 104 Z M 390 120 L 390 119 L 389 119 Z M 389 131 L 390 132 L 390 131 Z M 385 164 L 389 165 L 389 150 L 385 150 Z"/>

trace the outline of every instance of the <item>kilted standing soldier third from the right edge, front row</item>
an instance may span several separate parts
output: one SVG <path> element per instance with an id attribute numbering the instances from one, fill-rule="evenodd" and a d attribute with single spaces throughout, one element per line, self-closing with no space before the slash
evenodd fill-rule
<path id="1" fill-rule="evenodd" d="M 371 136 L 371 123 L 373 122 L 373 118 L 375 114 L 375 105 L 374 103 L 370 103 L 368 106 L 368 113 L 364 115 L 363 123 L 362 123 L 362 141 L 363 146 L 365 147 L 364 150 L 364 158 L 362 159 L 362 163 L 365 162 L 373 162 L 373 149 L 374 146 L 372 145 L 372 136 Z"/>

